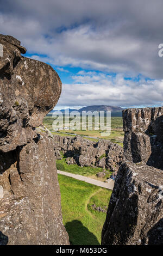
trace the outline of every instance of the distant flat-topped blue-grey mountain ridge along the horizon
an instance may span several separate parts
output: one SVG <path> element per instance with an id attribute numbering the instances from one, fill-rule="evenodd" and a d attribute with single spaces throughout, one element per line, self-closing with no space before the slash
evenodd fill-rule
<path id="1" fill-rule="evenodd" d="M 111 116 L 112 117 L 122 117 L 122 110 L 123 108 L 121 107 L 114 107 L 114 106 L 106 106 L 106 105 L 95 105 L 95 106 L 87 106 L 87 107 L 82 107 L 80 109 L 71 109 L 71 108 L 67 108 L 69 109 L 69 112 L 72 112 L 72 111 L 79 111 L 80 113 L 82 113 L 82 111 L 91 111 L 91 112 L 94 112 L 94 111 L 111 111 Z M 66 110 L 67 110 L 66 109 Z M 53 112 L 55 111 L 58 111 L 58 110 L 52 110 L 49 114 L 53 114 Z M 65 113 L 65 109 L 61 109 L 59 110 L 61 111 L 62 113 Z"/>

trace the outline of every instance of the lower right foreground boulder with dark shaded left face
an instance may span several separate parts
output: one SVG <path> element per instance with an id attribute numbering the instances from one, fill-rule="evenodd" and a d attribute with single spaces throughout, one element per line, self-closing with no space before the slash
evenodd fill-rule
<path id="1" fill-rule="evenodd" d="M 121 165 L 103 227 L 103 245 L 159 245 L 163 242 L 163 196 L 161 199 L 158 186 L 162 179 L 161 170 L 146 164 L 137 166 L 126 162 Z"/>

